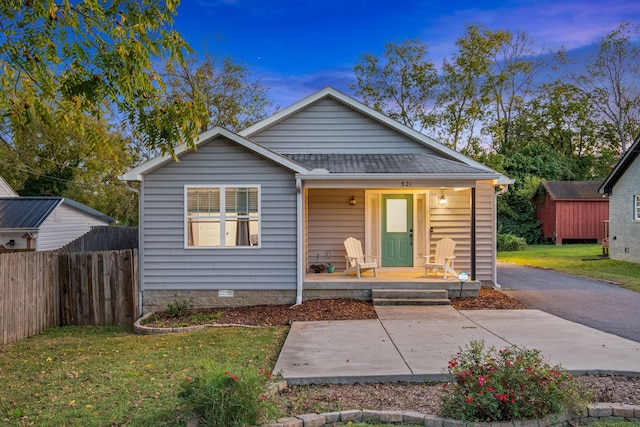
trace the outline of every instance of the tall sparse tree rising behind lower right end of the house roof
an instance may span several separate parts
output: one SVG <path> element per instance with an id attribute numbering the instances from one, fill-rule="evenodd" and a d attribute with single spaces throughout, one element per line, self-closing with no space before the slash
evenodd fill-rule
<path id="1" fill-rule="evenodd" d="M 518 146 L 513 122 L 534 90 L 542 63 L 526 33 L 469 25 L 443 65 L 442 129 L 448 145 L 478 156 Z"/>

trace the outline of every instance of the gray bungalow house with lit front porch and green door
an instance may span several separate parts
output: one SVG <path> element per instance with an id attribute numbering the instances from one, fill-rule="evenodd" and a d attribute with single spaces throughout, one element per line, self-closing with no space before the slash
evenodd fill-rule
<path id="1" fill-rule="evenodd" d="M 460 287 L 425 277 L 445 237 L 466 286 L 495 283 L 496 197 L 508 179 L 325 88 L 233 133 L 215 127 L 179 161 L 121 179 L 139 186 L 143 311 L 370 299 L 375 288 Z M 345 276 L 344 241 L 378 257 L 378 277 Z M 329 264 L 334 273 L 314 274 Z"/>

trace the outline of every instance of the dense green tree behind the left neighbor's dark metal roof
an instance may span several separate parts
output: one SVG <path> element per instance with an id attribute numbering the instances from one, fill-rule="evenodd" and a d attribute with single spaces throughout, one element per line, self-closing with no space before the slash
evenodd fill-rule
<path id="1" fill-rule="evenodd" d="M 49 128 L 34 118 L 12 141 L 0 143 L 0 175 L 21 196 L 68 197 L 135 225 L 136 195 L 117 178 L 136 163 L 135 146 L 104 120 L 85 117 L 83 125 L 104 142 L 96 146 L 75 125 Z"/>

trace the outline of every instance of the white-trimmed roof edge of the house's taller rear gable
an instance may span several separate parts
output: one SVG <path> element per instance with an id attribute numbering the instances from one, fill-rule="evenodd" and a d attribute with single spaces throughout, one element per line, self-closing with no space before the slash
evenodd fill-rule
<path id="1" fill-rule="evenodd" d="M 384 114 L 374 110 L 371 107 L 368 107 L 362 102 L 357 101 L 332 87 L 326 87 L 314 94 L 309 95 L 308 97 L 296 102 L 295 104 L 292 104 L 291 106 L 283 110 L 278 111 L 274 115 L 254 124 L 253 126 L 249 126 L 248 128 L 240 131 L 239 135 L 242 135 L 247 138 L 251 138 L 253 135 L 259 132 L 262 132 L 263 130 L 275 125 L 276 123 L 281 122 L 282 120 L 285 120 L 286 118 L 298 113 L 301 110 L 308 108 L 309 106 L 325 98 L 332 98 L 352 108 L 353 110 L 360 112 L 361 114 L 371 117 L 372 119 L 392 128 L 396 132 L 406 135 L 407 137 L 421 143 L 422 145 L 434 150 L 435 152 L 442 154 L 446 158 L 457 160 L 459 162 L 468 164 L 469 166 L 473 166 L 478 169 L 484 169 L 484 170 L 495 173 L 495 171 L 483 165 L 482 163 L 476 162 L 475 160 L 470 159 L 469 157 L 466 157 L 465 155 L 460 154 L 455 150 L 452 150 L 451 148 L 437 142 L 436 140 L 428 137 L 427 135 L 420 133 L 408 126 L 405 126 L 402 123 L 396 120 L 393 120 L 390 117 L 385 116 Z"/>

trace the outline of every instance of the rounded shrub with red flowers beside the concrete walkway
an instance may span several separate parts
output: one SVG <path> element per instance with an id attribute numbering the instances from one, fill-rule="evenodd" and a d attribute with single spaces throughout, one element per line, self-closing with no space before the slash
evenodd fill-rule
<path id="1" fill-rule="evenodd" d="M 464 421 L 494 422 L 577 413 L 588 395 L 561 366 L 550 366 L 538 350 L 511 346 L 496 351 L 472 341 L 449 361 L 440 412 Z"/>

